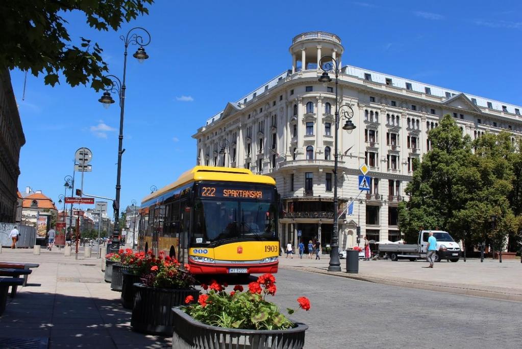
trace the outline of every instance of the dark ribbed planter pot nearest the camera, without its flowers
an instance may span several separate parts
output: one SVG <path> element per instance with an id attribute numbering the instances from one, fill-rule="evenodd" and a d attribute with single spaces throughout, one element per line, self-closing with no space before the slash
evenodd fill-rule
<path id="1" fill-rule="evenodd" d="M 294 322 L 288 330 L 241 330 L 227 329 L 201 323 L 187 315 L 180 308 L 172 308 L 174 332 L 172 349 L 214 349 L 214 348 L 278 348 L 302 349 L 304 334 L 308 325 Z"/>

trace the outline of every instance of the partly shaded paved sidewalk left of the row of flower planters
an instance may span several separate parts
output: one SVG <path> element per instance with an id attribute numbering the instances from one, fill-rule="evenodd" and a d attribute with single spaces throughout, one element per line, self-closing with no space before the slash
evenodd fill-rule
<path id="1" fill-rule="evenodd" d="M 78 256 L 64 257 L 58 249 L 43 249 L 40 255 L 32 249 L 2 250 L 0 261 L 40 267 L 33 269 L 17 297 L 7 300 L 0 338 L 49 338 L 49 348 L 171 347 L 170 338 L 132 332 L 131 311 L 103 281 L 101 259 Z"/>

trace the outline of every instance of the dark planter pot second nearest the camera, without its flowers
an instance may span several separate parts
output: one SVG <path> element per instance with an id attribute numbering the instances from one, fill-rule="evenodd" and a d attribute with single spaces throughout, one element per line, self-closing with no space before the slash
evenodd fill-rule
<path id="1" fill-rule="evenodd" d="M 184 305 L 187 296 L 199 297 L 197 289 L 154 288 L 136 283 L 134 290 L 133 331 L 165 336 L 171 336 L 173 332 L 172 307 Z"/>

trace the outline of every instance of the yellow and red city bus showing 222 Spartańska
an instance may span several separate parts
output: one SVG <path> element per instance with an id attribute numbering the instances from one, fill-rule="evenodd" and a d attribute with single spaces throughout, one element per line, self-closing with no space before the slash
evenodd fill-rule
<path id="1" fill-rule="evenodd" d="M 276 273 L 276 182 L 248 169 L 196 166 L 144 197 L 138 247 L 194 274 Z"/>

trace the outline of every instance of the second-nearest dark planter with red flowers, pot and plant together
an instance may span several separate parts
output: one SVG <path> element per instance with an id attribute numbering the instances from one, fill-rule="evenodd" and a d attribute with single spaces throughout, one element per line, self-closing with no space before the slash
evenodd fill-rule
<path id="1" fill-rule="evenodd" d="M 131 326 L 141 333 L 172 335 L 172 307 L 183 305 L 187 296 L 199 295 L 194 277 L 188 265 L 183 267 L 176 259 L 163 257 L 162 252 L 156 258 L 149 251 L 146 267 L 141 283 L 134 284 Z"/>

